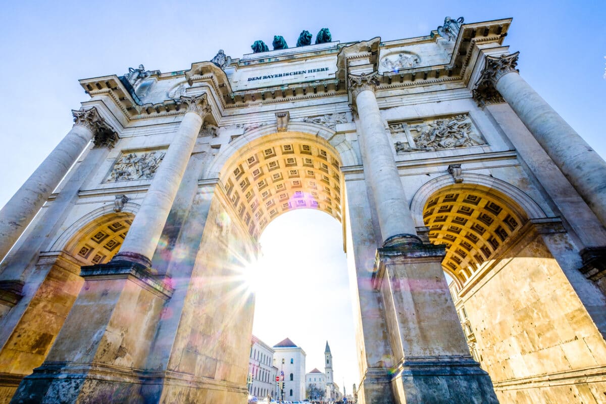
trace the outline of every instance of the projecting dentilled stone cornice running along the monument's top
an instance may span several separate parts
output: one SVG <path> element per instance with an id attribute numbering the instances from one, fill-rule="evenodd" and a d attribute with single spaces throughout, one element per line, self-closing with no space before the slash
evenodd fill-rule
<path id="1" fill-rule="evenodd" d="M 401 70 L 398 73 L 379 74 L 377 76 L 379 85 L 376 89 L 378 98 L 381 97 L 380 93 L 383 90 L 398 90 L 399 88 L 422 87 L 456 81 L 462 81 L 465 85 L 464 81 L 468 79 L 465 77 L 465 72 L 470 67 L 470 63 L 473 63 L 474 57 L 477 56 L 477 51 L 474 51 L 477 48 L 476 45 L 491 42 L 502 44 L 510 24 L 511 19 L 501 19 L 462 25 L 454 44 L 453 56 L 448 64 L 409 68 Z M 215 100 L 216 107 L 218 107 L 216 108 L 217 111 L 215 111 L 216 118 L 220 118 L 224 115 L 224 111 L 232 111 L 242 107 L 259 107 L 262 105 L 292 103 L 322 97 L 344 96 L 348 94 L 346 83 L 348 62 L 368 59 L 369 63 L 375 66 L 374 70 L 376 70 L 379 50 L 381 48 L 437 41 L 438 39 L 436 38 L 439 37 L 431 38 L 431 36 L 423 36 L 384 43 L 381 42 L 381 38 L 373 38 L 369 41 L 338 44 L 335 48 L 322 50 L 327 53 L 319 53 L 317 56 L 314 54 L 313 57 L 319 58 L 325 55 L 334 55 L 336 51 L 339 52 L 337 55 L 338 71 L 336 78 L 319 82 L 311 81 L 286 86 L 257 88 L 255 90 L 233 91 L 225 72 L 211 62 L 196 62 L 191 64 L 189 70 L 173 72 L 177 73 L 176 75 L 173 73 L 164 73 L 158 77 L 167 79 L 184 75 L 190 86 L 196 83 L 205 84 L 208 96 Z M 303 52 L 301 55 L 311 55 L 311 53 L 314 52 L 310 48 L 308 52 Z M 287 56 L 288 58 L 293 57 L 293 55 Z M 288 59 L 287 56 L 278 55 L 276 58 L 272 56 L 263 63 L 281 62 Z M 297 57 L 299 56 L 299 53 L 297 53 Z M 242 62 L 239 59 L 235 59 L 235 61 L 236 68 L 241 64 L 261 63 L 261 59 L 258 61 L 257 59 L 255 61 L 251 60 L 250 62 Z M 234 62 L 232 62 L 233 65 Z M 127 121 L 171 117 L 184 113 L 184 109 L 174 99 L 167 99 L 157 104 L 138 105 L 116 75 L 83 79 L 79 82 L 90 96 L 104 96 L 111 99 L 119 110 L 122 111 Z M 198 87 L 201 87 L 201 85 L 193 88 Z M 191 92 L 193 91 L 188 91 L 188 95 Z"/>

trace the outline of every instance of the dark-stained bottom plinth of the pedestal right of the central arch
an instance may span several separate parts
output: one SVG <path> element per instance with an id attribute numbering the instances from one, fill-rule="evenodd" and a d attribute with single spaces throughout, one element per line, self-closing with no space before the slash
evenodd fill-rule
<path id="1" fill-rule="evenodd" d="M 490 376 L 474 360 L 405 360 L 391 379 L 401 404 L 498 404 Z"/>

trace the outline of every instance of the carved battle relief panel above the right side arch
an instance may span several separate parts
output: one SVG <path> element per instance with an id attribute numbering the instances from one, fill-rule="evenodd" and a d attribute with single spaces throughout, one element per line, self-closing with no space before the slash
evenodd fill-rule
<path id="1" fill-rule="evenodd" d="M 469 114 L 390 124 L 397 153 L 484 145 Z"/>

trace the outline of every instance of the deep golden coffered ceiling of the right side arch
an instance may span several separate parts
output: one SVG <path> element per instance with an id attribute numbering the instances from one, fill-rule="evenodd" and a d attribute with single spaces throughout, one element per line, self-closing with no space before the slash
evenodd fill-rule
<path id="1" fill-rule="evenodd" d="M 427 199 L 423 220 L 431 243 L 447 246 L 442 267 L 462 286 L 498 256 L 497 250 L 528 219 L 516 202 L 499 191 L 482 185 L 451 185 Z"/>

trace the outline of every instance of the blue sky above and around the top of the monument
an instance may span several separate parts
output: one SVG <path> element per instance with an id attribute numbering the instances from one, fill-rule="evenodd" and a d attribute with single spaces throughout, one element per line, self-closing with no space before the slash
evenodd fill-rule
<path id="1" fill-rule="evenodd" d="M 466 22 L 513 17 L 505 44 L 521 52 L 521 75 L 606 156 L 606 2 L 5 1 L 0 206 L 72 127 L 70 110 L 87 99 L 78 79 L 122 75 L 141 63 L 149 70 L 185 70 L 191 62 L 211 59 L 219 48 L 239 58 L 250 53 L 253 41 L 270 44 L 273 35 L 294 46 L 304 29 L 315 35 L 328 27 L 333 40 L 341 42 L 423 36 L 447 15 L 464 16 Z M 287 334 L 302 345 L 294 333 Z M 318 334 L 317 339 L 321 355 L 327 338 Z M 310 348 L 304 346 L 308 358 Z M 345 359 L 335 357 L 335 366 Z M 349 389 L 355 378 L 349 370 L 356 366 L 342 366 Z M 341 383 L 339 368 L 335 373 Z"/>

